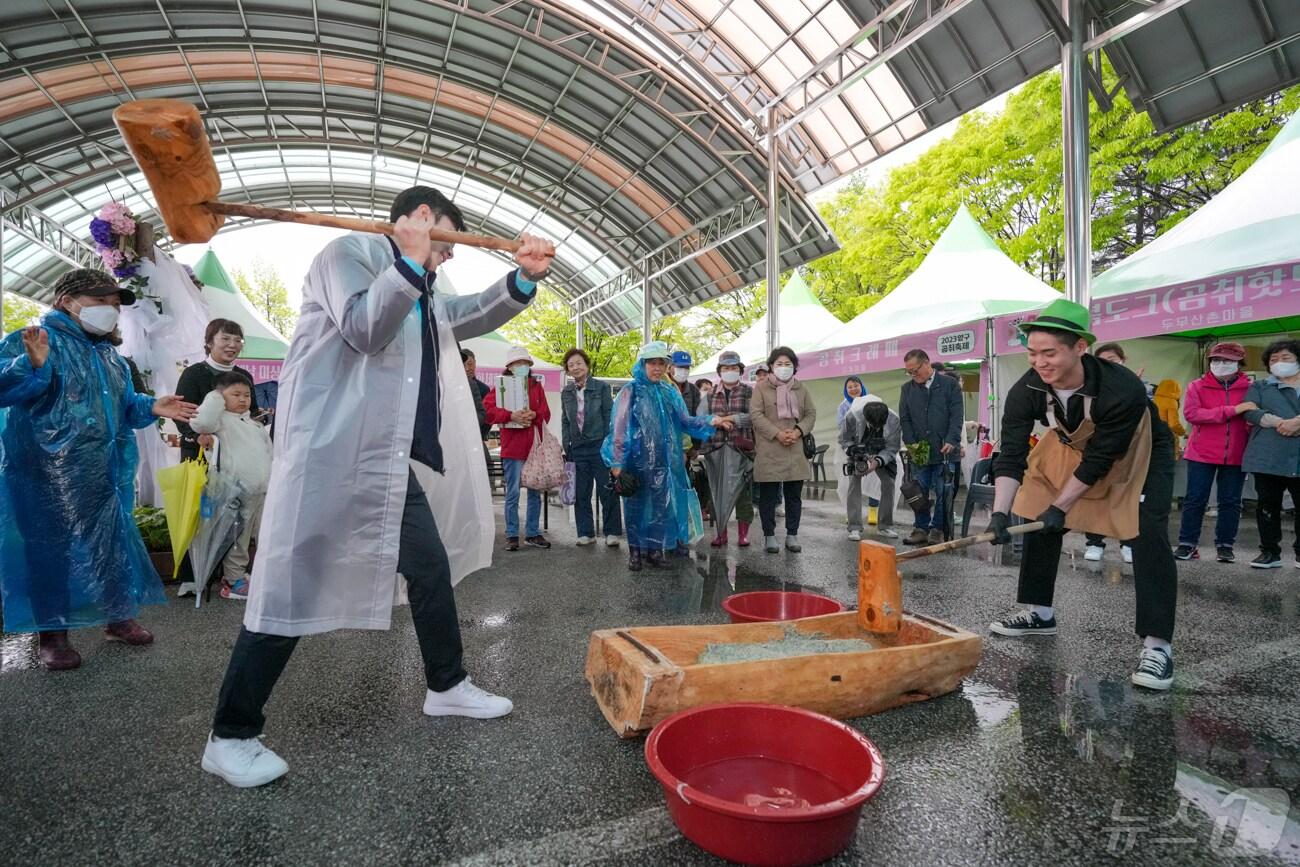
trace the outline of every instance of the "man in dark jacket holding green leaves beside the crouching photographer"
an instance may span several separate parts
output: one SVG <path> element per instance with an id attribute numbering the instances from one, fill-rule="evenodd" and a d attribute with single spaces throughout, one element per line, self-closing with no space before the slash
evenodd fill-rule
<path id="1" fill-rule="evenodd" d="M 898 421 L 902 442 L 913 446 L 930 443 L 930 458 L 915 465 L 916 484 L 930 491 L 930 512 L 916 512 L 916 525 L 907 545 L 933 545 L 952 538 L 950 490 L 961 472 L 962 386 L 953 377 L 941 376 L 930 364 L 924 350 L 911 350 L 902 357 L 907 382 L 898 398 Z"/>

